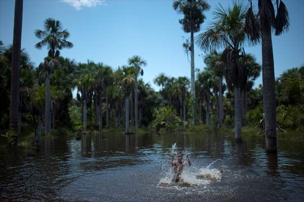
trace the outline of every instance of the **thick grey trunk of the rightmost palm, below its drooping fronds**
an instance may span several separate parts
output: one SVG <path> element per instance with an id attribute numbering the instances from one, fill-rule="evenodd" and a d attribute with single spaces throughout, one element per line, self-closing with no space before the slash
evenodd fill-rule
<path id="1" fill-rule="evenodd" d="M 277 151 L 275 73 L 271 29 L 262 31 L 263 103 L 268 152 Z"/>

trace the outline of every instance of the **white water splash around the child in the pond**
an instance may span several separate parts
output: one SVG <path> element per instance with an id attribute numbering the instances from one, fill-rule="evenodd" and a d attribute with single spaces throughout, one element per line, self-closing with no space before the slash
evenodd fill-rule
<path id="1" fill-rule="evenodd" d="M 177 149 L 177 143 L 173 143 L 171 148 L 169 149 L 169 153 L 177 154 Z M 187 154 L 186 149 L 184 149 L 184 153 Z M 204 167 L 197 167 L 193 165 L 193 163 L 191 167 L 185 166 L 181 174 L 181 180 L 179 182 L 173 182 L 172 179 L 175 173 L 173 171 L 173 168 L 169 164 L 167 156 L 168 153 L 166 154 L 165 161 L 162 165 L 162 171 L 158 183 L 159 186 L 166 188 L 171 187 L 177 190 L 194 186 L 203 186 L 205 188 L 205 185 L 208 185 L 211 182 L 221 181 L 223 171 L 219 168 L 211 168 L 215 165 L 216 162 L 222 161 L 221 159 L 218 159 Z"/>

